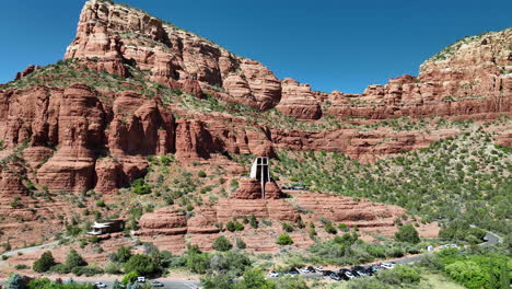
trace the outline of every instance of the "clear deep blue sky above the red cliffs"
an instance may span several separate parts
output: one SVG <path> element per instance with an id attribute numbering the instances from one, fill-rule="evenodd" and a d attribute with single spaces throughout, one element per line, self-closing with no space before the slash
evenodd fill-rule
<path id="1" fill-rule="evenodd" d="M 2 1 L 0 83 L 61 59 L 84 0 Z M 116 1 L 119 2 L 119 1 Z M 511 0 L 123 0 L 314 90 L 359 93 L 467 35 L 512 26 Z"/>

